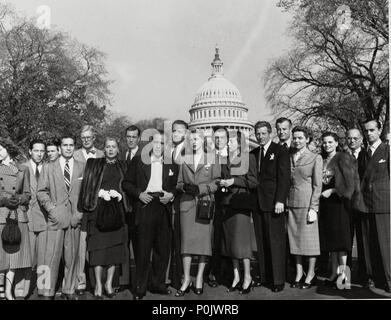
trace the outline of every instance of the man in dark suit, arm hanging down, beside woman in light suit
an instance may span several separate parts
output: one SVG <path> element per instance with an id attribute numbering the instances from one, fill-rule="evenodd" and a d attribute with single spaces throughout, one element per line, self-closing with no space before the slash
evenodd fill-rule
<path id="1" fill-rule="evenodd" d="M 271 141 L 269 122 L 255 124 L 255 136 L 260 147 L 251 151 L 257 160 L 258 208 L 254 213 L 254 228 L 262 282 L 272 283 L 272 291 L 285 286 L 286 217 L 285 203 L 289 192 L 290 159 L 286 148 Z"/>

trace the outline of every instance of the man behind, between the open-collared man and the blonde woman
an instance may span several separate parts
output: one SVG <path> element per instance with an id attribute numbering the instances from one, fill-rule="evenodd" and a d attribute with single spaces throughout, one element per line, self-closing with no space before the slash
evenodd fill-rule
<path id="1" fill-rule="evenodd" d="M 171 150 L 172 163 L 176 166 L 182 164 L 185 158 L 185 138 L 188 125 L 183 120 L 175 120 L 172 123 L 172 144 Z M 171 259 L 168 269 L 168 277 L 171 279 L 171 285 L 179 290 L 181 287 L 181 280 L 183 275 L 183 265 L 181 256 L 181 224 L 179 212 L 180 196 L 175 197 L 172 204 L 172 244 L 171 244 Z"/>

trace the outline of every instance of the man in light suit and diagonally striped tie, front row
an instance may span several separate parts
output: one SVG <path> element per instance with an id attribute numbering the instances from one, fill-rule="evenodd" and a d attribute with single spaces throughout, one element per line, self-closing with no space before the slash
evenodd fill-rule
<path id="1" fill-rule="evenodd" d="M 72 136 L 61 138 L 61 157 L 44 166 L 37 191 L 37 199 L 48 213 L 48 241 L 44 257 L 47 279 L 43 295 L 54 296 L 63 255 L 65 270 L 62 292 L 68 300 L 77 299 L 75 290 L 82 218 L 82 213 L 77 210 L 77 201 L 85 166 L 73 157 L 75 140 Z"/>

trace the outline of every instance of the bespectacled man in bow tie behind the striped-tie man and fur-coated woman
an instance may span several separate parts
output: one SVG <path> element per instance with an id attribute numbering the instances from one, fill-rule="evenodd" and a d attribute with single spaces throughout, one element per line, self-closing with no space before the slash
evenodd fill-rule
<path id="1" fill-rule="evenodd" d="M 105 155 L 102 150 L 95 147 L 96 133 L 93 126 L 85 125 L 81 129 L 80 139 L 82 147 L 75 151 L 73 157 L 75 160 L 82 163 L 86 163 L 88 159 L 103 158 Z M 77 265 L 77 289 L 76 294 L 81 296 L 84 295 L 87 280 L 85 272 L 86 255 L 87 255 L 87 232 L 81 231 L 80 233 L 80 247 L 79 247 L 79 259 Z M 90 272 L 90 277 L 93 272 Z"/>

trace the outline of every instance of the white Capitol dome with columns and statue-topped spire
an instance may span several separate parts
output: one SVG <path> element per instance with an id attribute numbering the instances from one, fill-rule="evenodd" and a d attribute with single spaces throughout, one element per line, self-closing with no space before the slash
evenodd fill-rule
<path id="1" fill-rule="evenodd" d="M 189 129 L 200 129 L 211 135 L 216 126 L 240 130 L 249 136 L 253 124 L 247 119 L 248 108 L 239 90 L 223 74 L 223 62 L 216 47 L 212 75 L 197 91 L 190 110 Z"/>

